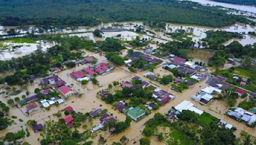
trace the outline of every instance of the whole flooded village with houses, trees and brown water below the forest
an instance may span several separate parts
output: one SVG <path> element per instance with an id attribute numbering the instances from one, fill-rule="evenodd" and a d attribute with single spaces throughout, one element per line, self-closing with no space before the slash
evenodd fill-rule
<path id="1" fill-rule="evenodd" d="M 211 128 L 255 144 L 255 32 L 243 23 L 1 26 L 0 144 L 196 144 Z"/>

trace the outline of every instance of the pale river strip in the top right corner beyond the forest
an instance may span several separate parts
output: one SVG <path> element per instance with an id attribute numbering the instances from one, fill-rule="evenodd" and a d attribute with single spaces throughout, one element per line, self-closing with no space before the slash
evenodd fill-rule
<path id="1" fill-rule="evenodd" d="M 241 4 L 229 4 L 229 3 L 220 3 L 216 1 L 209 1 L 209 0 L 189 0 L 196 3 L 200 3 L 203 5 L 211 4 L 212 6 L 223 6 L 225 8 L 232 8 L 239 11 L 248 11 L 250 13 L 256 13 L 256 6 L 246 6 Z"/>

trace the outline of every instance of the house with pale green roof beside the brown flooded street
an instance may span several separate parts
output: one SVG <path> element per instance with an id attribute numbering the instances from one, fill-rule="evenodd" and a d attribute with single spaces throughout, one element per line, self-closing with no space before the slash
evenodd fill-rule
<path id="1" fill-rule="evenodd" d="M 140 107 L 131 107 L 127 112 L 127 115 L 132 118 L 134 121 L 138 121 L 142 119 L 146 114 L 146 111 L 141 109 Z"/>

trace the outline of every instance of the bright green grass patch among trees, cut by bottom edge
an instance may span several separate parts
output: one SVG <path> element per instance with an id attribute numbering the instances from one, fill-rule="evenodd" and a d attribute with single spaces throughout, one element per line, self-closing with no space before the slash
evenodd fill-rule
<path id="1" fill-rule="evenodd" d="M 182 144 L 182 145 L 193 144 L 193 141 L 188 139 L 188 137 L 186 137 L 184 135 L 184 133 L 179 132 L 175 128 L 172 128 L 172 132 L 170 133 L 170 137 L 173 137 L 173 139 L 176 140 L 176 141 L 179 140 L 180 144 Z"/>

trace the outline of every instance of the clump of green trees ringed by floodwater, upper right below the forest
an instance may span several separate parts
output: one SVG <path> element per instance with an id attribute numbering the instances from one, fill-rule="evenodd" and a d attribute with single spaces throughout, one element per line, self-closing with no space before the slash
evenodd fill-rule
<path id="1" fill-rule="evenodd" d="M 232 38 L 243 38 L 242 34 L 238 32 L 227 32 L 227 31 L 207 31 L 206 38 L 202 39 L 206 41 L 210 49 L 221 49 L 224 47 L 222 43 Z"/>

